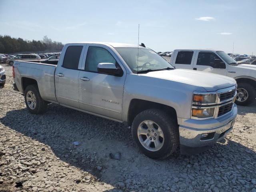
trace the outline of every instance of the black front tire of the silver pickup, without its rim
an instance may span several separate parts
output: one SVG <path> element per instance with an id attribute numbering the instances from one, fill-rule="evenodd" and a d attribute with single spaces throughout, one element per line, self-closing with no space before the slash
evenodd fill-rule
<path id="1" fill-rule="evenodd" d="M 162 148 L 157 151 L 150 151 L 144 148 L 138 138 L 138 127 L 146 120 L 158 124 L 164 134 L 164 144 L 162 145 Z M 179 146 L 178 124 L 176 120 L 158 109 L 142 111 L 134 118 L 134 121 L 132 122 L 132 136 L 142 153 L 153 159 L 164 159 L 175 152 Z"/>

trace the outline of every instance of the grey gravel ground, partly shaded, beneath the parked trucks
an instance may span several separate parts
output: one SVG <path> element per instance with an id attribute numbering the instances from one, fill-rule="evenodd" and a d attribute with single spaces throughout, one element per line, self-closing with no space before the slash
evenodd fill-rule
<path id="1" fill-rule="evenodd" d="M 152 160 L 123 124 L 55 104 L 28 113 L 12 68 L 3 66 L 0 191 L 256 192 L 256 102 L 238 107 L 234 130 L 210 150 Z"/>

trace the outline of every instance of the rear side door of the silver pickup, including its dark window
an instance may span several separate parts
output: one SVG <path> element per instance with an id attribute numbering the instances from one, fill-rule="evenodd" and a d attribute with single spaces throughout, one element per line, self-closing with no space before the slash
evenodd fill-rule
<path id="1" fill-rule="evenodd" d="M 55 90 L 57 101 L 66 106 L 79 108 L 78 103 L 78 67 L 82 64 L 81 45 L 70 45 L 62 52 L 55 71 Z"/>

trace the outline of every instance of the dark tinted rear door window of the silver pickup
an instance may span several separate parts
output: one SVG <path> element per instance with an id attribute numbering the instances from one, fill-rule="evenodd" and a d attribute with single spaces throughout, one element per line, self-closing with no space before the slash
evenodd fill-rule
<path id="1" fill-rule="evenodd" d="M 66 50 L 62 67 L 77 70 L 82 49 L 83 46 L 69 46 Z"/>

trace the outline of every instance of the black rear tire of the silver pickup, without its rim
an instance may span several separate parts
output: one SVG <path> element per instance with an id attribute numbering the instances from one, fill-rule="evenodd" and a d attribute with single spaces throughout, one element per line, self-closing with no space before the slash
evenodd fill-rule
<path id="1" fill-rule="evenodd" d="M 27 94 L 28 94 L 29 91 L 33 92 L 33 94 L 34 94 L 34 96 L 36 98 L 36 106 L 35 106 L 34 109 L 32 109 L 32 108 L 30 108 L 28 106 Z M 32 114 L 42 114 L 42 113 L 46 112 L 47 104 L 42 99 L 42 97 L 40 96 L 40 93 L 39 93 L 37 85 L 29 85 L 29 86 L 27 86 L 26 90 L 25 90 L 24 97 L 25 97 L 26 106 L 27 106 L 28 111 L 30 113 L 32 113 Z"/>

